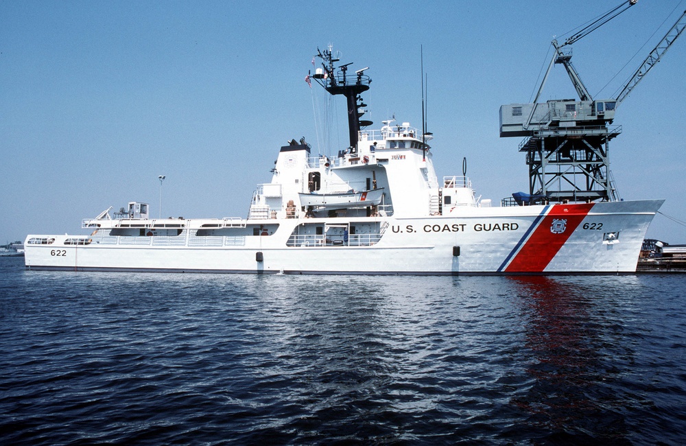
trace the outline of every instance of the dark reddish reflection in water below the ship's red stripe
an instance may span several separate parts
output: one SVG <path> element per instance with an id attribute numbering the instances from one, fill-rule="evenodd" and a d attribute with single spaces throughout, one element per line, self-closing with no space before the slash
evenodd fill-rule
<path id="1" fill-rule="evenodd" d="M 510 280 L 526 314 L 525 347 L 532 355 L 526 370 L 532 385 L 512 404 L 528 412 L 528 423 L 548 440 L 626 441 L 622 401 L 607 390 L 617 375 L 608 355 L 622 331 L 606 318 L 608 299 L 573 280 Z"/>

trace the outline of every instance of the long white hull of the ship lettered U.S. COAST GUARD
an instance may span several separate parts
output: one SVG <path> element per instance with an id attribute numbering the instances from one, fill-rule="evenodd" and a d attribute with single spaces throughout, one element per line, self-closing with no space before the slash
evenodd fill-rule
<path id="1" fill-rule="evenodd" d="M 373 223 L 383 228 L 378 237 L 372 237 L 372 243 L 359 243 L 354 235 L 339 244 L 325 234 L 299 240 L 292 236 L 302 224 L 349 224 L 343 218 L 283 219 L 270 235 L 239 237 L 199 237 L 189 230 L 171 236 L 125 237 L 105 235 L 101 230 L 88 238 L 88 244 L 79 245 L 73 244 L 69 235 L 29 235 L 25 263 L 32 270 L 75 271 L 626 273 L 635 271 L 646 230 L 662 202 L 466 208 L 428 218 L 355 219 L 358 225 Z M 230 234 L 233 229 L 224 231 Z M 31 239 L 52 241 L 36 244 Z M 197 246 L 201 239 L 213 246 Z"/>

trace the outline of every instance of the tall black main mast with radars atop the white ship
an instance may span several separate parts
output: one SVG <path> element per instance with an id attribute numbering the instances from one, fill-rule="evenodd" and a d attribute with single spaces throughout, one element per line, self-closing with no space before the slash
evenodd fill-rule
<path id="1" fill-rule="evenodd" d="M 363 91 L 369 89 L 369 84 L 372 80 L 368 75 L 364 74 L 366 69 L 355 71 L 355 76 L 352 79 L 348 78 L 348 66 L 353 62 L 334 66 L 334 62 L 338 62 L 338 58 L 334 58 L 331 54 L 331 47 L 324 50 L 324 54 L 319 49 L 316 57 L 322 59 L 322 68 L 315 70 L 314 79 L 324 87 L 331 95 L 344 95 L 348 105 L 348 136 L 350 138 L 351 153 L 357 152 L 357 134 L 359 129 L 366 126 L 371 126 L 372 121 L 361 121 L 359 118 L 364 115 L 364 110 L 360 108 L 366 104 L 362 102 L 362 97 L 359 96 Z"/>

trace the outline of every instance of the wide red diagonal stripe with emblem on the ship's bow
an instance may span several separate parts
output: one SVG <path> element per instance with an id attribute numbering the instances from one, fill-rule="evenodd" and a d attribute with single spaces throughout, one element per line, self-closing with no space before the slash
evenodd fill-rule
<path id="1" fill-rule="evenodd" d="M 554 205 L 505 271 L 543 272 L 592 207 L 593 203 Z M 567 220 L 565 232 L 551 231 L 554 220 Z"/>

